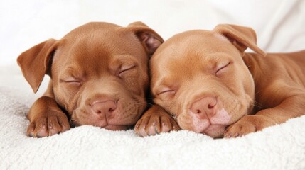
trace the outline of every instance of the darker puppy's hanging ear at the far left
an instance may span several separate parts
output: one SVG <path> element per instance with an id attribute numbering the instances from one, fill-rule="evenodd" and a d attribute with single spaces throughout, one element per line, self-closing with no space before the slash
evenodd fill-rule
<path id="1" fill-rule="evenodd" d="M 50 58 L 55 51 L 56 40 L 50 39 L 22 52 L 17 58 L 23 76 L 31 85 L 34 93 L 43 81 L 44 74 L 50 72 Z"/>

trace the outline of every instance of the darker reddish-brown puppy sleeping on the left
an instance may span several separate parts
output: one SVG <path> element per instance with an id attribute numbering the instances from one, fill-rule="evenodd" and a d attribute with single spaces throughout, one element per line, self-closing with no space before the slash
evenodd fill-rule
<path id="1" fill-rule="evenodd" d="M 44 96 L 28 113 L 27 134 L 45 137 L 74 125 L 126 130 L 146 108 L 149 56 L 163 42 L 144 23 L 127 27 L 87 23 L 23 52 L 18 64 L 34 92 L 44 74 Z"/>

